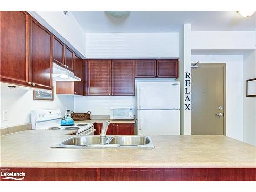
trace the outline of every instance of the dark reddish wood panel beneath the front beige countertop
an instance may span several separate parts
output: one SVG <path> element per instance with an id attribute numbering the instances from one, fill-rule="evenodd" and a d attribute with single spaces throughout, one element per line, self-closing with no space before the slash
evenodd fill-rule
<path id="1" fill-rule="evenodd" d="M 1 168 L 6 171 L 25 173 L 20 181 L 256 181 L 256 168 Z"/>

